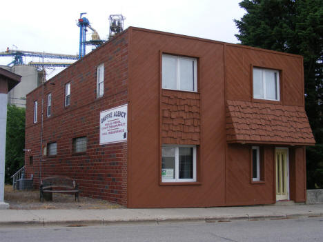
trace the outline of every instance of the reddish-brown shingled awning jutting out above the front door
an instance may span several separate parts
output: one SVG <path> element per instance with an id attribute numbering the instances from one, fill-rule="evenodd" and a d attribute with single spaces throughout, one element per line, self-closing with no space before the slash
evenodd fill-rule
<path id="1" fill-rule="evenodd" d="M 248 101 L 227 101 L 226 140 L 286 145 L 315 143 L 303 107 Z"/>

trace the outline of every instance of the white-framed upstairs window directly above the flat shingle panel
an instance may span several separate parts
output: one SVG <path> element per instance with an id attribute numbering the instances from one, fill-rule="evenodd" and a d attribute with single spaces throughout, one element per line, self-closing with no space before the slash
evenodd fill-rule
<path id="1" fill-rule="evenodd" d="M 162 56 L 162 87 L 164 89 L 197 92 L 197 59 Z"/>

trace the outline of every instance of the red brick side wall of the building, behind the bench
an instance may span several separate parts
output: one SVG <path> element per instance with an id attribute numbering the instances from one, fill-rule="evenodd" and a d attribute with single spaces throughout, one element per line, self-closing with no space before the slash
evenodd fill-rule
<path id="1" fill-rule="evenodd" d="M 97 66 L 104 63 L 104 97 L 97 99 Z M 49 82 L 55 83 L 50 85 Z M 70 82 L 70 105 L 64 106 Z M 128 32 L 120 34 L 53 77 L 43 87 L 43 145 L 57 142 L 57 155 L 39 164 L 42 87 L 27 96 L 26 173 L 41 177 L 63 175 L 77 179 L 81 196 L 127 204 L 127 143 L 99 145 L 101 111 L 128 103 Z M 52 115 L 47 117 L 47 94 L 52 93 Z M 38 121 L 33 123 L 34 101 Z M 84 154 L 73 154 L 72 139 L 87 137 Z M 30 156 L 33 165 L 30 165 Z"/>

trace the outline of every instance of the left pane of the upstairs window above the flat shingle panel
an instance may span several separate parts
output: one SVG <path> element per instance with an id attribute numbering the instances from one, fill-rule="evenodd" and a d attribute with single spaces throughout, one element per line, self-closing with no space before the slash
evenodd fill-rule
<path id="1" fill-rule="evenodd" d="M 166 89 L 177 89 L 177 59 L 163 56 L 162 61 L 162 85 Z"/>

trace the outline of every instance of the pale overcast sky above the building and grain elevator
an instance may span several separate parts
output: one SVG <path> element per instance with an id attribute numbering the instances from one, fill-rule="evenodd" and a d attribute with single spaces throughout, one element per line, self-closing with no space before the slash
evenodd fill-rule
<path id="1" fill-rule="evenodd" d="M 240 19 L 242 0 L 97 0 L 97 1 L 1 1 L 0 52 L 18 50 L 78 54 L 81 12 L 101 39 L 108 38 L 110 14 L 126 17 L 128 26 L 161 30 L 194 37 L 238 43 L 233 19 Z M 92 31 L 88 31 L 88 38 Z M 15 47 L 14 47 L 15 48 Z M 86 50 L 91 47 L 87 46 Z M 0 57 L 0 65 L 12 59 Z M 39 59 L 26 59 L 40 61 Z"/>

